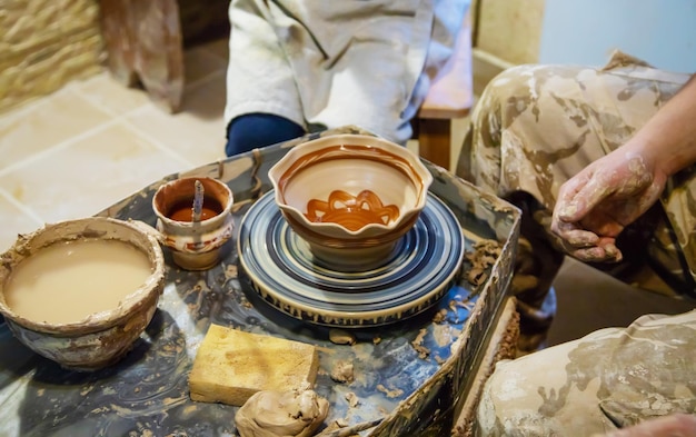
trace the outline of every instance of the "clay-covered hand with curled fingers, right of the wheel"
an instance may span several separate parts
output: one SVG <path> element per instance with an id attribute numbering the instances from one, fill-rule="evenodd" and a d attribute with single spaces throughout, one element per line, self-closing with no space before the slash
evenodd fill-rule
<path id="1" fill-rule="evenodd" d="M 666 180 L 642 155 L 619 148 L 560 187 L 551 231 L 583 261 L 620 261 L 616 237 L 655 203 Z"/>

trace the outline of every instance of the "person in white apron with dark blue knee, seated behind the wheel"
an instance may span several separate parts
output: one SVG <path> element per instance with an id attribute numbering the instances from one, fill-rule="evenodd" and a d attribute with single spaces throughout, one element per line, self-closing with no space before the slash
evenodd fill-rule
<path id="1" fill-rule="evenodd" d="M 226 155 L 356 125 L 405 145 L 470 0 L 232 0 Z"/>

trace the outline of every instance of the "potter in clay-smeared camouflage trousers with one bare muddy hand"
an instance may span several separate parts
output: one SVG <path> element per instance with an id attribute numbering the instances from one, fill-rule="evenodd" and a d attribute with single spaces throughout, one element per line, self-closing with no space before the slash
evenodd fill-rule
<path id="1" fill-rule="evenodd" d="M 695 162 L 696 75 L 617 52 L 603 69 L 520 66 L 488 85 L 457 172 L 523 210 L 521 352 L 484 387 L 481 435 L 696 436 L 696 310 L 534 351 L 566 255 L 619 279 L 647 259 L 694 296 Z"/>

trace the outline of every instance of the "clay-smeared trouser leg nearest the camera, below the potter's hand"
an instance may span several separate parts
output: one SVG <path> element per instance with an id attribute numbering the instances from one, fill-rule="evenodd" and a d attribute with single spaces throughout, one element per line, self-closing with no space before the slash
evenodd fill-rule
<path id="1" fill-rule="evenodd" d="M 481 436 L 590 436 L 696 414 L 696 310 L 643 316 L 499 361 L 478 407 Z"/>

